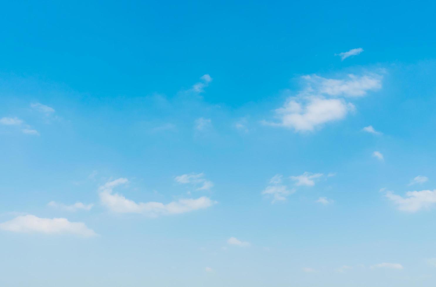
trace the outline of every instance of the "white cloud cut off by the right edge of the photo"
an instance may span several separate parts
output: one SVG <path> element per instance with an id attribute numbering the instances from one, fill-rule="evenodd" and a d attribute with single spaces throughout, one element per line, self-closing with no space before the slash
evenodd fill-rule
<path id="1" fill-rule="evenodd" d="M 433 191 L 408 191 L 406 192 L 406 197 L 388 191 L 385 196 L 390 199 L 399 210 L 407 212 L 417 212 L 421 209 L 428 209 L 436 203 L 436 189 Z"/>

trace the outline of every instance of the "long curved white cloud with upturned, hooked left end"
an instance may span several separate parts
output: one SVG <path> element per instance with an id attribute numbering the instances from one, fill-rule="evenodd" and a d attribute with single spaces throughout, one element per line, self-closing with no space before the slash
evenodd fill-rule
<path id="1" fill-rule="evenodd" d="M 112 192 L 114 187 L 127 182 L 127 179 L 120 178 L 100 186 L 99 196 L 102 205 L 115 213 L 140 213 L 150 217 L 157 217 L 206 209 L 216 203 L 205 196 L 198 199 L 179 199 L 167 204 L 159 202 L 136 203 L 133 200 L 126 199 L 123 195 Z"/>

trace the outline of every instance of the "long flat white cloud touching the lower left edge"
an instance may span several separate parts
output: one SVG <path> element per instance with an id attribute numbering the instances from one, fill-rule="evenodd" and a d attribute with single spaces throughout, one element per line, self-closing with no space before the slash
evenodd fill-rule
<path id="1" fill-rule="evenodd" d="M 0 229 L 19 233 L 74 234 L 85 237 L 97 235 L 82 222 L 69 222 L 66 218 L 39 218 L 34 215 L 18 216 L 0 223 Z"/>

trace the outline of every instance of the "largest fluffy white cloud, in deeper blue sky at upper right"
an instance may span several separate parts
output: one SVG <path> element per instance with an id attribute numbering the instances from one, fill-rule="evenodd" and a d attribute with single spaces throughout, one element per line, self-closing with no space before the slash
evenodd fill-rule
<path id="1" fill-rule="evenodd" d="M 378 74 L 349 74 L 343 79 L 307 75 L 301 79 L 306 88 L 296 96 L 288 97 L 283 107 L 276 109 L 279 121 L 263 121 L 263 124 L 292 128 L 296 132 L 313 131 L 327 122 L 344 119 L 355 110 L 345 98 L 362 97 L 368 91 L 381 88 L 381 76 Z"/>

